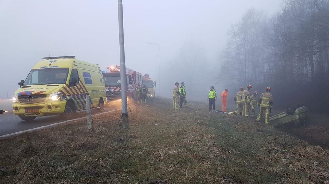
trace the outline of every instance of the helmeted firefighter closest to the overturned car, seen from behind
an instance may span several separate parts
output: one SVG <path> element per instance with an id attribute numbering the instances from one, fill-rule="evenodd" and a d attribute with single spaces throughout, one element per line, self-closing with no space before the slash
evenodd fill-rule
<path id="1" fill-rule="evenodd" d="M 261 96 L 259 97 L 258 102 L 259 102 L 259 106 L 261 107 L 261 109 L 258 113 L 256 121 L 261 120 L 263 112 L 265 111 L 265 123 L 269 123 L 268 122 L 268 113 L 271 113 L 272 106 L 273 106 L 273 97 L 272 97 L 272 94 L 269 93 L 270 91 L 271 91 L 271 87 L 266 87 L 266 92 L 262 93 Z"/>

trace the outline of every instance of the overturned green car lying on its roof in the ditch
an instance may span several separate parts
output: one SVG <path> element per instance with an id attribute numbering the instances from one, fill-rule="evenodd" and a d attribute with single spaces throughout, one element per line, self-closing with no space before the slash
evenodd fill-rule
<path id="1" fill-rule="evenodd" d="M 293 108 L 291 106 L 287 107 L 286 112 L 271 116 L 268 118 L 269 125 L 276 126 L 286 123 L 295 123 L 298 126 L 299 123 L 304 122 L 308 119 L 307 108 L 302 106 L 298 108 Z"/>

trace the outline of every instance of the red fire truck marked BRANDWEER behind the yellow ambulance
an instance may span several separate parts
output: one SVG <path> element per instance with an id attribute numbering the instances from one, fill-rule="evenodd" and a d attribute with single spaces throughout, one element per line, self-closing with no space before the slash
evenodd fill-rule
<path id="1" fill-rule="evenodd" d="M 115 101 L 121 99 L 121 79 L 120 66 L 108 67 L 109 71 L 103 73 L 107 101 Z M 136 86 L 141 83 L 143 86 L 143 78 L 140 72 L 126 68 L 127 77 L 127 98 L 136 99 Z"/>

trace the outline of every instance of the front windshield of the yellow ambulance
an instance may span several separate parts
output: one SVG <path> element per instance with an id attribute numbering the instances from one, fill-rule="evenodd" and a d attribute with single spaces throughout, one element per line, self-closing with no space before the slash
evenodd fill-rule
<path id="1" fill-rule="evenodd" d="M 65 84 L 69 68 L 42 68 L 30 71 L 23 85 Z"/>

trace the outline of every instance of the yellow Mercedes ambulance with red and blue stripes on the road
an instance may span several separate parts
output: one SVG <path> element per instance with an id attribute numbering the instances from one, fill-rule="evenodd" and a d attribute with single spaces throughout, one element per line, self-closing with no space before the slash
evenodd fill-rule
<path id="1" fill-rule="evenodd" d="M 61 114 L 71 117 L 86 109 L 86 95 L 92 108 L 104 109 L 106 92 L 98 64 L 75 56 L 46 57 L 34 65 L 13 96 L 13 113 L 22 120 Z"/>

